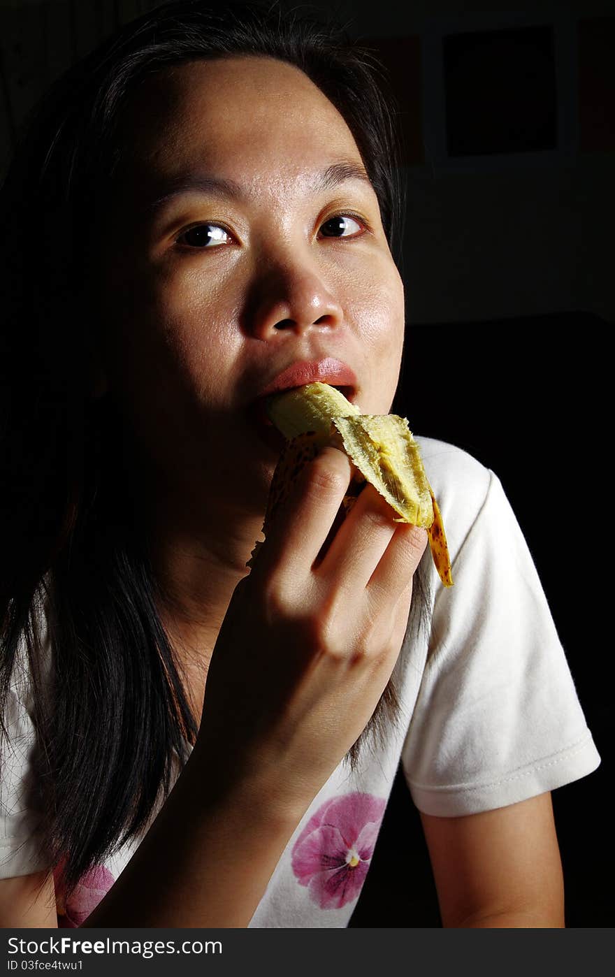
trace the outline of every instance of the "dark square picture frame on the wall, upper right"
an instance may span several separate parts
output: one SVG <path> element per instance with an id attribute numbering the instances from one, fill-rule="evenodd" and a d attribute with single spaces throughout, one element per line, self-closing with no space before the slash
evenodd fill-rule
<path id="1" fill-rule="evenodd" d="M 421 42 L 425 161 L 433 172 L 571 161 L 578 85 L 570 11 L 429 17 Z"/>

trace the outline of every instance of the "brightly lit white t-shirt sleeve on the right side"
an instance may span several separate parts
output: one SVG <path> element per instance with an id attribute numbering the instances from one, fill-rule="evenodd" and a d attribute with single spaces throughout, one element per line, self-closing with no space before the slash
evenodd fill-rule
<path id="1" fill-rule="evenodd" d="M 500 480 L 483 472 L 455 585 L 437 590 L 402 751 L 417 808 L 440 817 L 525 800 L 600 762 L 525 538 Z"/>

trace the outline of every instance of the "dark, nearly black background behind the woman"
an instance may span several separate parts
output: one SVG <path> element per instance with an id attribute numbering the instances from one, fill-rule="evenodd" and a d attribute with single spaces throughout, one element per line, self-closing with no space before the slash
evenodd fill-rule
<path id="1" fill-rule="evenodd" d="M 0 174 L 42 90 L 154 6 L 0 0 Z M 553 793 L 566 921 L 611 926 L 615 0 L 480 6 L 342 0 L 336 13 L 386 64 L 405 135 L 408 338 L 393 410 L 492 468 L 525 532 L 602 756 Z M 398 775 L 351 926 L 409 925 L 440 918 Z"/>

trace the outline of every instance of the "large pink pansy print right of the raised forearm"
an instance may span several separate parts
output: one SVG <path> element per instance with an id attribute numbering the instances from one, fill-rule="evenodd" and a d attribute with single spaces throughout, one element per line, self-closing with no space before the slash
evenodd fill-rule
<path id="1" fill-rule="evenodd" d="M 355 791 L 319 807 L 292 848 L 292 871 L 322 910 L 359 898 L 386 801 Z"/>

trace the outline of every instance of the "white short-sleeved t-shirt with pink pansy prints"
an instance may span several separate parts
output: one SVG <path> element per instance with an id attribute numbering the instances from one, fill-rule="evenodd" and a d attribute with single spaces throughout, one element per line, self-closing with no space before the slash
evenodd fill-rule
<path id="1" fill-rule="evenodd" d="M 289 839 L 251 927 L 348 924 L 400 762 L 417 808 L 445 817 L 525 800 L 599 764 L 543 588 L 499 479 L 458 447 L 417 441 L 442 511 L 455 586 L 442 586 L 427 549 L 433 616 L 429 633 L 422 630 L 417 638 L 409 629 L 395 666 L 400 721 L 391 725 L 386 743 L 363 753 L 354 774 L 344 762 L 333 771 Z M 47 866 L 36 848 L 26 686 L 14 683 L 8 709 L 0 877 Z M 128 842 L 89 872 L 67 907 L 60 898 L 61 926 L 85 921 L 138 844 Z"/>

